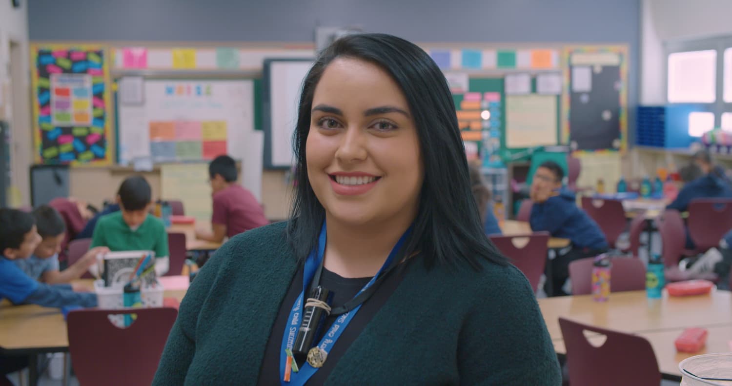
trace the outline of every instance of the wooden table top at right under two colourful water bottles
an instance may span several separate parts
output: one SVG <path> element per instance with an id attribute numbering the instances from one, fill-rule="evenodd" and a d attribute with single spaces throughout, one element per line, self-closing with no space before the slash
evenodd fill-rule
<path id="1" fill-rule="evenodd" d="M 592 295 L 539 299 L 551 338 L 561 339 L 559 317 L 624 333 L 646 333 L 686 327 L 732 325 L 732 292 L 646 298 L 645 291 L 613 292 L 604 303 Z"/>

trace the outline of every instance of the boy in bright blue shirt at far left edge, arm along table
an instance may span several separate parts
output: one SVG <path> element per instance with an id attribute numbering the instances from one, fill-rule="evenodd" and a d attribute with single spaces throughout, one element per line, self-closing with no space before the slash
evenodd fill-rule
<path id="1" fill-rule="evenodd" d="M 96 294 L 74 292 L 70 284 L 39 283 L 15 265 L 14 260 L 28 259 L 41 242 L 33 215 L 18 209 L 0 209 L 0 234 L 0 299 L 56 308 L 97 306 Z"/>

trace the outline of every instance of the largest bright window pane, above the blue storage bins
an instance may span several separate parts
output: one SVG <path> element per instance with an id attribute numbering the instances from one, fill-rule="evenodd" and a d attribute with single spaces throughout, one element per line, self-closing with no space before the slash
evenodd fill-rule
<path id="1" fill-rule="evenodd" d="M 714 103 L 717 99 L 716 73 L 715 50 L 671 53 L 668 56 L 668 102 Z M 691 128 L 689 130 L 691 132 Z"/>

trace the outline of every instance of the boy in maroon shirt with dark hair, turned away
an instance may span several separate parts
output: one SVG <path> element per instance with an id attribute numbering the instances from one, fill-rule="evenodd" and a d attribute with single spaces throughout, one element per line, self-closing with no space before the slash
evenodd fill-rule
<path id="1" fill-rule="evenodd" d="M 228 155 L 220 155 L 209 164 L 209 182 L 213 190 L 214 212 L 212 229 L 197 230 L 201 240 L 223 242 L 224 237 L 234 237 L 244 231 L 269 223 L 264 209 L 252 192 L 236 183 L 236 162 Z"/>

